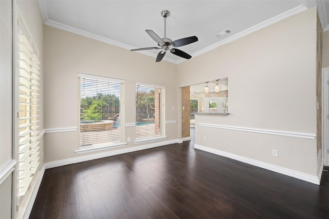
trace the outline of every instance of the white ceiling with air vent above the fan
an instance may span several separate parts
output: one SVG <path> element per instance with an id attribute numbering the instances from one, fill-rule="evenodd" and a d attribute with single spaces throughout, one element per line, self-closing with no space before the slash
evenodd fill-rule
<path id="1" fill-rule="evenodd" d="M 74 32 L 125 49 L 156 47 L 145 32 L 164 34 L 162 10 L 169 10 L 167 38 L 196 35 L 198 42 L 179 47 L 192 56 L 231 42 L 308 8 L 318 6 L 324 30 L 329 29 L 329 0 L 267 1 L 96 1 L 39 0 L 46 25 Z M 226 29 L 231 33 L 215 36 Z M 156 57 L 159 50 L 139 51 Z M 192 57 L 193 58 L 193 57 Z M 165 60 L 186 59 L 167 52 Z"/>

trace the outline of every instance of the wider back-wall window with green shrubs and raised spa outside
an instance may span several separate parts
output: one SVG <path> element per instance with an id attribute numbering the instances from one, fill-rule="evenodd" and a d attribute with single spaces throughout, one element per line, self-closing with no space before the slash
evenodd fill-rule
<path id="1" fill-rule="evenodd" d="M 78 151 L 122 145 L 124 81 L 78 74 L 78 84 Z"/>

